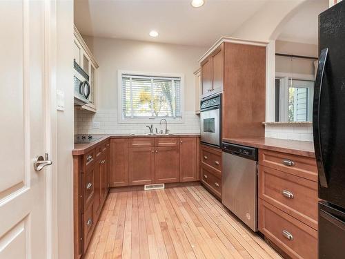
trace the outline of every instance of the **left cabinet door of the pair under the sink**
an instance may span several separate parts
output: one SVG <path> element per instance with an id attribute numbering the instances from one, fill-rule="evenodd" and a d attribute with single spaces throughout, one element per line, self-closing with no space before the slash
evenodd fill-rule
<path id="1" fill-rule="evenodd" d="M 155 151 L 153 147 L 128 148 L 129 185 L 155 182 Z"/>

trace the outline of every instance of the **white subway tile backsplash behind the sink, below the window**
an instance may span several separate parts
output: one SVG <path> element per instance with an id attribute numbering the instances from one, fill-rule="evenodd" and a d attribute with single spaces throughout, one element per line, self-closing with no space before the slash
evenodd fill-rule
<path id="1" fill-rule="evenodd" d="M 95 124 L 96 122 L 96 124 Z M 97 125 L 99 122 L 99 127 Z M 165 124 L 152 123 L 153 128 L 165 129 Z M 168 123 L 170 133 L 200 133 L 200 118 L 193 111 L 184 113 L 183 123 Z M 146 124 L 119 123 L 117 110 L 90 113 L 75 109 L 75 134 L 144 134 L 149 133 Z"/>

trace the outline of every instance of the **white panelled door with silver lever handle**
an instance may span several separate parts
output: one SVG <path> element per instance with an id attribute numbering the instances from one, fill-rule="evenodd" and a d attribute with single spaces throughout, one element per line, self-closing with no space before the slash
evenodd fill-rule
<path id="1" fill-rule="evenodd" d="M 0 1 L 0 258 L 47 258 L 45 1 Z"/>

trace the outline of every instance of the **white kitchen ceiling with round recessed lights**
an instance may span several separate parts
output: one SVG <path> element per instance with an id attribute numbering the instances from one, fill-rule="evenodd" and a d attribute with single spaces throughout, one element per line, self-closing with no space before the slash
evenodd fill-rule
<path id="1" fill-rule="evenodd" d="M 267 0 L 75 0 L 75 25 L 81 35 L 211 46 L 229 36 Z M 148 36 L 157 30 L 159 37 Z"/>

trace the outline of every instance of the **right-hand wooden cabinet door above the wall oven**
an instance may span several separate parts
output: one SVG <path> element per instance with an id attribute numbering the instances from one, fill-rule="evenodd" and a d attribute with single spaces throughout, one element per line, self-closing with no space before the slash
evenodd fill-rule
<path id="1" fill-rule="evenodd" d="M 224 81 L 224 48 L 221 45 L 211 54 L 212 67 L 212 93 L 223 90 Z"/>

